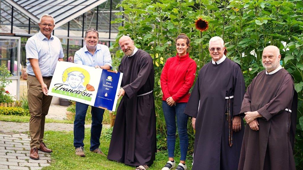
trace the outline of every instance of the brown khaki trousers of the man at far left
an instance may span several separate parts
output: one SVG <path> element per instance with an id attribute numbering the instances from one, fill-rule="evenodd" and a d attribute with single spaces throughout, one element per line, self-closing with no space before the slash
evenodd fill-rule
<path id="1" fill-rule="evenodd" d="M 43 79 L 49 90 L 49 85 L 52 79 Z M 44 136 L 45 116 L 48 113 L 49 106 L 51 105 L 52 96 L 45 96 L 42 92 L 41 85 L 38 79 L 34 76 L 28 75 L 27 78 L 27 99 L 28 108 L 31 118 L 29 120 L 29 133 L 31 136 L 30 147 L 40 147 L 40 142 Z"/>

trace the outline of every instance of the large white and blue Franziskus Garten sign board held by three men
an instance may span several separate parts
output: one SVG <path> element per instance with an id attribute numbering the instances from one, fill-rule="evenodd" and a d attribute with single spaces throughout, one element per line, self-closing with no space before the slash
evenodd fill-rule
<path id="1" fill-rule="evenodd" d="M 48 95 L 115 111 L 122 73 L 59 61 Z"/>

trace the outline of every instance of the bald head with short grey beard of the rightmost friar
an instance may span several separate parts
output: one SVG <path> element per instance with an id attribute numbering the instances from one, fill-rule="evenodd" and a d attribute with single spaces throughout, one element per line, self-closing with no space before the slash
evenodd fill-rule
<path id="1" fill-rule="evenodd" d="M 278 47 L 269 45 L 264 48 L 262 53 L 262 64 L 267 72 L 271 72 L 280 66 L 280 50 Z"/>

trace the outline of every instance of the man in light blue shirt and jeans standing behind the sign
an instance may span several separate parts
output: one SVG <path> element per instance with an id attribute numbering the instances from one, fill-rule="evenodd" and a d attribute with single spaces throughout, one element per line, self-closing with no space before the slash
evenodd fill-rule
<path id="1" fill-rule="evenodd" d="M 75 53 L 74 63 L 87 65 L 95 68 L 110 70 L 112 58 L 107 46 L 98 44 L 99 34 L 94 28 L 85 32 L 85 46 Z M 76 116 L 74 121 L 74 146 L 78 156 L 84 154 L 84 124 L 88 105 L 76 102 Z M 91 146 L 89 150 L 101 155 L 104 153 L 99 148 L 102 131 L 104 109 L 92 106 Z"/>

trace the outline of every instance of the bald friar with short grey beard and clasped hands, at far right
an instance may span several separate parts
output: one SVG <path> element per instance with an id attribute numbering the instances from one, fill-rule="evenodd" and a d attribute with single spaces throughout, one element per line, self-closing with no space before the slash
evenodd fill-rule
<path id="1" fill-rule="evenodd" d="M 280 65 L 278 47 L 265 47 L 261 71 L 248 86 L 241 111 L 246 127 L 238 170 L 294 170 L 297 95 Z M 295 96 L 295 97 L 294 97 Z"/>

